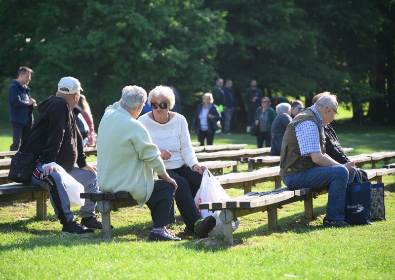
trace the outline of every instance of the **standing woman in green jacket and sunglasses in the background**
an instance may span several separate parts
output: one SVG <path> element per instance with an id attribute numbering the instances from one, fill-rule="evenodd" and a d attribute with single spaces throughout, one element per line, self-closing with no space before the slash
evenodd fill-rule
<path id="1" fill-rule="evenodd" d="M 272 124 L 276 118 L 275 110 L 270 106 L 270 98 L 264 96 L 261 99 L 261 107 L 258 107 L 255 111 L 255 125 L 258 126 L 257 132 L 257 145 L 258 148 L 263 147 L 263 142 L 266 142 L 266 146 L 270 147 L 272 140 Z"/>

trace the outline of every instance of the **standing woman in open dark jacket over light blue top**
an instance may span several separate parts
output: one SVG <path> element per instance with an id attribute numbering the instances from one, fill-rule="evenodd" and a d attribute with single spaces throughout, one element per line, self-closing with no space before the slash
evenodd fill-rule
<path id="1" fill-rule="evenodd" d="M 218 121 L 221 113 L 216 105 L 213 104 L 213 95 L 205 93 L 203 102 L 197 106 L 191 133 L 197 132 L 197 139 L 200 146 L 204 146 L 204 139 L 207 138 L 207 145 L 212 145 L 215 131 L 218 129 Z"/>

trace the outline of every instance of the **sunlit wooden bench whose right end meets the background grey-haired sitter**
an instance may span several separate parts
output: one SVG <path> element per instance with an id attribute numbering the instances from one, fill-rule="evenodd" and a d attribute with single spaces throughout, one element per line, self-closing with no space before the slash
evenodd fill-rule
<path id="1" fill-rule="evenodd" d="M 241 150 L 226 150 L 219 152 L 202 152 L 197 153 L 197 159 L 199 160 L 236 160 L 237 157 L 254 157 L 258 155 L 265 155 L 270 153 L 270 148 L 258 148 L 258 149 L 241 149 Z"/>

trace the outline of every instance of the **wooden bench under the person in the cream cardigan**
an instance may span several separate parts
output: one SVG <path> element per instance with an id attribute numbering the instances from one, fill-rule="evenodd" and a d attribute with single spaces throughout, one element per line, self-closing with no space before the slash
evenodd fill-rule
<path id="1" fill-rule="evenodd" d="M 97 202 L 96 209 L 102 214 L 102 236 L 111 238 L 111 211 L 138 205 L 128 192 L 117 193 L 81 193 L 80 198 Z"/>

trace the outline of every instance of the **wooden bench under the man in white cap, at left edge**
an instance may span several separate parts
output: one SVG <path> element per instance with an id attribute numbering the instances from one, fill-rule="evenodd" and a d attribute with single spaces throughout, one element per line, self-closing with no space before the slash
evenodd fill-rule
<path id="1" fill-rule="evenodd" d="M 36 200 L 37 217 L 46 220 L 46 202 L 48 191 L 40 186 L 9 183 L 0 185 L 0 202 L 14 200 Z"/>

